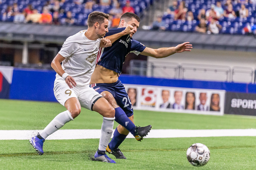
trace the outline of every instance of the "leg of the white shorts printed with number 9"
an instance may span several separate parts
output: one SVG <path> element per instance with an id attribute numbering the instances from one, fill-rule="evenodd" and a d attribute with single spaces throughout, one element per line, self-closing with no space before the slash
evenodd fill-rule
<path id="1" fill-rule="evenodd" d="M 54 82 L 53 92 L 55 98 L 60 102 L 61 105 L 65 106 L 65 103 L 70 98 L 77 99 L 78 87 L 70 89 L 66 82 Z"/>

